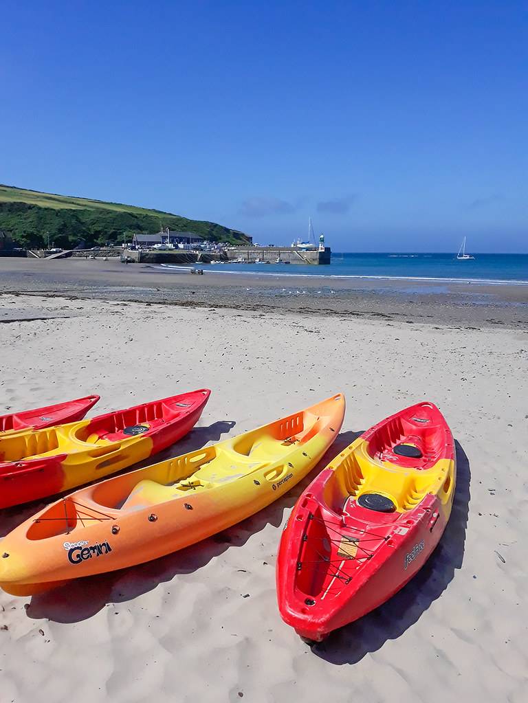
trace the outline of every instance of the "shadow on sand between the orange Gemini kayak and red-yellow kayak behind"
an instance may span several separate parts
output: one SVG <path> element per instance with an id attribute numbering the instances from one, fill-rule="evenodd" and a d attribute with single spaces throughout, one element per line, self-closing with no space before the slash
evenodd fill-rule
<path id="1" fill-rule="evenodd" d="M 217 423 L 212 423 L 212 425 L 209 425 L 208 427 L 193 427 L 191 432 L 186 434 L 186 436 L 176 442 L 176 444 L 169 446 L 164 451 L 160 451 L 160 453 L 149 456 L 147 459 L 140 461 L 133 466 L 129 466 L 122 471 L 118 471 L 115 474 L 107 476 L 106 478 L 110 479 L 114 476 L 120 476 L 121 474 L 126 474 L 129 471 L 135 471 L 136 469 L 141 469 L 145 466 L 156 464 L 159 461 L 165 461 L 173 456 L 179 456 L 180 454 L 186 454 L 187 452 L 194 451 L 195 449 L 201 449 L 202 446 L 205 446 L 205 444 L 209 441 L 220 441 L 222 434 L 230 432 L 235 425 L 236 422 L 234 422 L 234 420 L 221 420 Z M 94 481 L 94 483 L 96 483 L 96 481 Z M 75 490 L 83 487 L 84 486 L 78 486 Z M 33 501 L 33 503 L 13 505 L 13 508 L 5 508 L 4 510 L 0 510 L 0 537 L 6 536 L 8 532 L 11 532 L 11 530 L 18 527 L 18 525 L 25 522 L 25 520 L 29 520 L 32 515 L 42 510 L 42 508 L 45 508 L 46 505 L 58 501 L 59 498 L 67 496 L 71 492 L 72 491 L 66 491 L 63 494 L 49 496 L 49 498 L 44 498 L 39 501 Z"/>

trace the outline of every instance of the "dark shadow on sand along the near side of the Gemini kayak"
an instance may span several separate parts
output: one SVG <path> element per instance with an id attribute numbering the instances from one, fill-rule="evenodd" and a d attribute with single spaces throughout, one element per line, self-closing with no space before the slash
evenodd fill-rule
<path id="1" fill-rule="evenodd" d="M 195 431 L 193 430 L 193 432 Z M 166 557 L 118 572 L 76 579 L 53 591 L 33 595 L 26 610 L 27 616 L 34 619 L 48 618 L 62 623 L 85 620 L 92 617 L 108 603 L 132 600 L 143 593 L 152 591 L 160 583 L 171 581 L 176 574 L 190 574 L 201 569 L 229 547 L 243 546 L 250 536 L 264 529 L 266 524 L 272 524 L 273 527 L 277 528 L 281 527 L 284 510 L 292 508 L 302 491 L 323 467 L 360 434 L 361 432 L 343 432 L 338 435 L 334 444 L 306 478 L 278 501 L 271 503 L 264 510 L 257 512 L 256 515 L 248 517 L 243 522 L 239 522 L 198 544 Z M 205 441 L 204 439 L 204 443 Z M 181 443 L 178 445 L 178 450 L 179 453 L 183 453 L 180 451 L 180 447 Z M 276 548 L 278 548 L 280 537 L 281 533 L 277 531 Z M 269 579 L 271 584 L 275 582 L 275 574 L 271 569 Z M 174 593 L 172 597 L 176 602 L 177 593 Z"/>

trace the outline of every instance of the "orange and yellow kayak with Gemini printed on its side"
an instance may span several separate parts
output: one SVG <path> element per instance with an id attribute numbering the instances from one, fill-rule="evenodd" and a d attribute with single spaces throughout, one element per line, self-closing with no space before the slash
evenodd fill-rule
<path id="1" fill-rule="evenodd" d="M 2 541 L 15 595 L 141 564 L 262 510 L 295 486 L 340 432 L 337 394 L 257 430 L 113 477 L 49 505 Z"/>

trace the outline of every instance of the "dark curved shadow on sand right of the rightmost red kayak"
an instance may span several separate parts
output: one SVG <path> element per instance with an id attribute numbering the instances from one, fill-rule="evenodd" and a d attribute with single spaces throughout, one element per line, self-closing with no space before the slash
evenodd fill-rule
<path id="1" fill-rule="evenodd" d="M 430 559 L 409 583 L 373 612 L 330 633 L 312 652 L 331 664 L 356 664 L 369 652 L 379 650 L 416 623 L 431 603 L 442 595 L 460 569 L 464 556 L 465 529 L 470 502 L 470 464 L 458 441 L 456 491 L 453 510 L 442 539 Z"/>

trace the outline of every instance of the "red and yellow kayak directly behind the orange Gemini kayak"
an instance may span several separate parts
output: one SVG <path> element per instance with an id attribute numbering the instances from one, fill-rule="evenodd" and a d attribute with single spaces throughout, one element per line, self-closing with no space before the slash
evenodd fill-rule
<path id="1" fill-rule="evenodd" d="M 166 449 L 192 430 L 210 393 L 203 388 L 77 423 L 0 436 L 0 508 L 68 491 Z"/>

